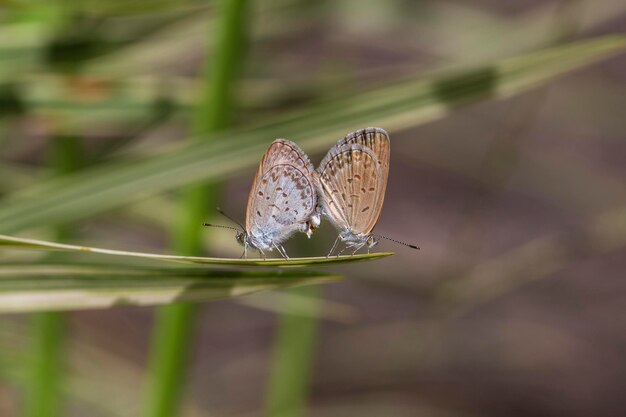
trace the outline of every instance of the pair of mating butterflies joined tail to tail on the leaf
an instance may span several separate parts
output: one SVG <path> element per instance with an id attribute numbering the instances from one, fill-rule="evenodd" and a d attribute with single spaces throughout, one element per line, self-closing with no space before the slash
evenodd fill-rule
<path id="1" fill-rule="evenodd" d="M 295 232 L 311 237 L 325 215 L 339 230 L 339 241 L 354 249 L 378 243 L 371 232 L 378 221 L 389 176 L 389 135 L 369 127 L 348 134 L 333 146 L 317 171 L 295 143 L 276 139 L 259 165 L 248 198 L 245 230 L 237 241 L 265 251 L 282 246 Z M 207 225 L 210 226 L 210 225 Z M 401 243 L 401 242 L 399 242 Z M 414 245 L 407 245 L 417 249 Z"/>

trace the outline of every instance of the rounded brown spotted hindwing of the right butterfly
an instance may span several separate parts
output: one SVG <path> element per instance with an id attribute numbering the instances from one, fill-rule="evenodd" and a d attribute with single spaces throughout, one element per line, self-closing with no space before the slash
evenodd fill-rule
<path id="1" fill-rule="evenodd" d="M 339 229 L 370 233 L 382 209 L 387 172 L 369 147 L 334 146 L 317 170 L 324 213 Z"/>

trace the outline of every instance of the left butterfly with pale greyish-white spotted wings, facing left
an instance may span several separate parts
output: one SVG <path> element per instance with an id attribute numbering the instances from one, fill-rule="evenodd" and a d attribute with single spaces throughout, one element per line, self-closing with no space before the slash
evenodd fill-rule
<path id="1" fill-rule="evenodd" d="M 320 225 L 314 172 L 309 158 L 298 145 L 286 139 L 272 142 L 261 159 L 250 189 L 246 226 L 236 234 L 237 241 L 244 247 L 244 257 L 247 257 L 248 247 L 252 247 L 264 259 L 265 251 L 274 249 L 288 259 L 282 242 L 295 232 L 311 237 Z"/>

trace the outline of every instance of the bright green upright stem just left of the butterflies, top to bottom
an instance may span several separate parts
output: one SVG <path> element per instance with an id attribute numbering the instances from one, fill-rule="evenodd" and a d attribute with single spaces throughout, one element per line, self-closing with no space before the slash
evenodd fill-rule
<path id="1" fill-rule="evenodd" d="M 233 87 L 243 57 L 247 27 L 247 0 L 221 0 L 217 9 L 217 43 L 207 51 L 202 74 L 202 90 L 193 124 L 195 137 L 203 138 L 230 124 Z M 209 33 L 208 36 L 214 36 Z M 202 253 L 202 228 L 215 207 L 218 190 L 213 185 L 183 190 L 179 223 L 172 233 L 175 251 L 186 255 Z M 174 304 L 156 316 L 149 364 L 150 380 L 146 392 L 145 415 L 178 415 L 182 399 L 186 359 L 193 338 L 196 307 Z"/>

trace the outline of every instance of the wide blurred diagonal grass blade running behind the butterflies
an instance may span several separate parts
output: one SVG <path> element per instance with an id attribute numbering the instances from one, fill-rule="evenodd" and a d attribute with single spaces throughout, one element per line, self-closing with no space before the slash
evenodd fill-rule
<path id="1" fill-rule="evenodd" d="M 321 151 L 346 132 L 367 125 L 392 131 L 416 126 L 444 117 L 455 105 L 511 97 L 625 50 L 625 36 L 560 45 L 479 69 L 404 81 L 254 129 L 214 134 L 210 142 L 45 181 L 6 199 L 0 207 L 0 231 L 85 218 L 158 192 L 231 176 L 256 165 L 276 137 L 294 139 L 306 151 Z M 228 140 L 232 138 L 237 140 Z"/>

